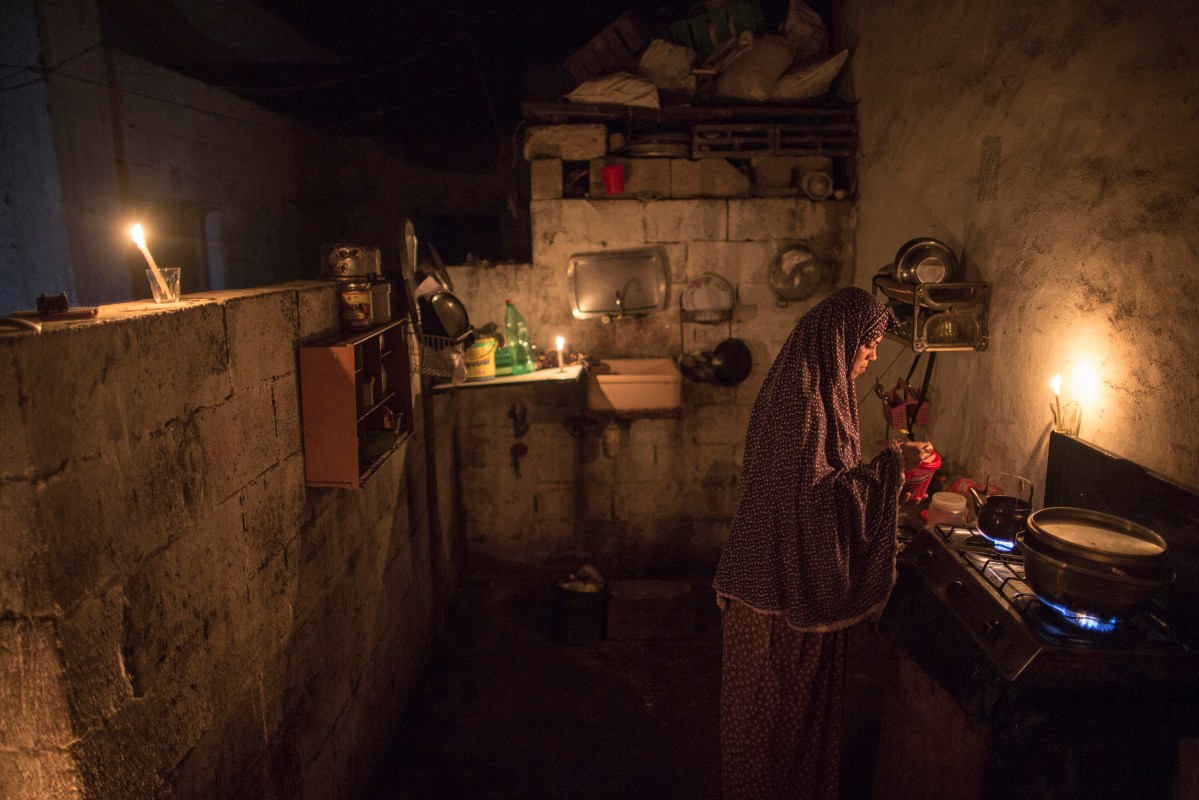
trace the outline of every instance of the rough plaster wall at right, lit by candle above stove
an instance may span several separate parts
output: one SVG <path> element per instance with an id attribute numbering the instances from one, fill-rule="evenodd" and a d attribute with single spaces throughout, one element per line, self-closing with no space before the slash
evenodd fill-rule
<path id="1" fill-rule="evenodd" d="M 1194 4 L 854 0 L 840 16 L 856 283 L 932 235 L 993 284 L 989 349 L 942 354 L 932 381 L 946 465 L 1041 485 L 1060 373 L 1081 438 L 1199 485 Z M 906 372 L 888 348 L 861 386 Z M 863 439 L 881 433 L 881 415 L 863 421 Z"/>

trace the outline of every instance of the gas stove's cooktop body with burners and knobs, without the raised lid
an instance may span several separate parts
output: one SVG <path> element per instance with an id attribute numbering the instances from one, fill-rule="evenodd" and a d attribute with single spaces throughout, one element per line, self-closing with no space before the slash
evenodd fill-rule
<path id="1" fill-rule="evenodd" d="M 914 582 L 923 591 L 914 591 Z M 930 602 L 940 609 L 930 609 Z M 934 628 L 934 620 L 945 616 L 951 619 Z M 1019 546 L 996 543 L 975 528 L 939 524 L 916 531 L 904 547 L 882 625 L 905 639 L 932 633 L 947 643 L 965 633 L 1011 682 L 1138 691 L 1199 686 L 1199 646 L 1174 630 L 1161 608 L 1097 618 L 1053 606 L 1029 587 Z"/>

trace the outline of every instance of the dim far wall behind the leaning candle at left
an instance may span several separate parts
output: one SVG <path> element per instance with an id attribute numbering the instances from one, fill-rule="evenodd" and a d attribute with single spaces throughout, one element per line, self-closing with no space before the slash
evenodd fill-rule
<path id="1" fill-rule="evenodd" d="M 315 277 L 331 241 L 379 246 L 398 271 L 404 217 L 502 205 L 499 175 L 410 167 L 336 120 L 317 131 L 109 49 L 95 0 L 0 13 L 7 60 L 34 67 L 0 86 L 0 313 L 43 291 L 149 297 L 127 230 L 145 222 L 161 257 L 153 219 L 168 207 L 194 222 L 171 242 L 194 293 Z"/>

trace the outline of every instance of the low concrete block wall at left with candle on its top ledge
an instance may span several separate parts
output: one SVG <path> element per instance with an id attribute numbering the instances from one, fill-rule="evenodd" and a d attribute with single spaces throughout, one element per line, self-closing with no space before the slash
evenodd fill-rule
<path id="1" fill-rule="evenodd" d="M 360 788 L 458 555 L 420 415 L 306 488 L 296 348 L 337 329 L 302 282 L 0 332 L 0 796 Z"/>

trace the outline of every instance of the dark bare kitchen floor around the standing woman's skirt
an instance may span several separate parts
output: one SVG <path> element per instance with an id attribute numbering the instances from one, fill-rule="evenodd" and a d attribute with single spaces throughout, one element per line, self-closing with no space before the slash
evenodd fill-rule
<path id="1" fill-rule="evenodd" d="M 697 636 L 559 644 L 552 576 L 464 579 L 362 800 L 718 799 L 719 616 Z M 873 630 L 855 628 L 844 796 L 869 796 L 881 714 Z"/>

